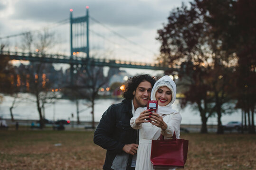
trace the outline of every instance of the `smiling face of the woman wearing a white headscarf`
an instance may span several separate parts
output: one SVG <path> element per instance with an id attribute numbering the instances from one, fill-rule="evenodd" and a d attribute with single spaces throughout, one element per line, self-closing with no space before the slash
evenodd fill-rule
<path id="1" fill-rule="evenodd" d="M 159 106 L 166 106 L 171 102 L 171 90 L 167 86 L 160 87 L 156 91 L 156 100 Z"/>

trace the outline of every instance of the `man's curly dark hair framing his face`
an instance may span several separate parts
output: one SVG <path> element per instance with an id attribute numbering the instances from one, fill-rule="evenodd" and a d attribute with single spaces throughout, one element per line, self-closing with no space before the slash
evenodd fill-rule
<path id="1" fill-rule="evenodd" d="M 127 100 L 132 100 L 133 91 L 135 91 L 138 85 L 143 81 L 150 82 L 152 87 L 155 84 L 155 80 L 148 74 L 130 77 L 129 80 L 127 81 L 127 84 L 125 85 L 123 97 Z"/>

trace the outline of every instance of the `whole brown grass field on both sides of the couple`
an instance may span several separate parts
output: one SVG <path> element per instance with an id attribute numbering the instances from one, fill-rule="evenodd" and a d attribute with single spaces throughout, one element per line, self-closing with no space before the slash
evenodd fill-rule
<path id="1" fill-rule="evenodd" d="M 185 170 L 256 170 L 256 135 L 181 134 Z M 0 131 L 0 170 L 101 170 L 105 150 L 91 131 Z"/>

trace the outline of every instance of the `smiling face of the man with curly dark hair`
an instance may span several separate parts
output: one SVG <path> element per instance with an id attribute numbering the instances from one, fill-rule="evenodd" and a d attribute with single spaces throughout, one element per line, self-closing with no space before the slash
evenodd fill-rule
<path id="1" fill-rule="evenodd" d="M 148 81 L 141 82 L 133 91 L 133 105 L 136 110 L 138 107 L 145 107 L 150 100 L 152 85 Z"/>

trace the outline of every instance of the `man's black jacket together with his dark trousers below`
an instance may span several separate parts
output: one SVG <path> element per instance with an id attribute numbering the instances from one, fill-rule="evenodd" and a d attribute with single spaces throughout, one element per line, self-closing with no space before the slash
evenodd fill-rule
<path id="1" fill-rule="evenodd" d="M 94 133 L 94 143 L 107 150 L 103 170 L 123 169 L 113 163 L 117 162 L 114 159 L 117 160 L 120 155 L 123 160 L 126 160 L 121 163 L 127 162 L 125 169 L 130 169 L 133 155 L 123 152 L 123 146 L 136 143 L 137 130 L 130 126 L 132 117 L 132 101 L 126 99 L 111 105 L 102 115 Z"/>

